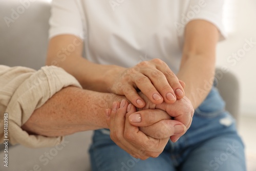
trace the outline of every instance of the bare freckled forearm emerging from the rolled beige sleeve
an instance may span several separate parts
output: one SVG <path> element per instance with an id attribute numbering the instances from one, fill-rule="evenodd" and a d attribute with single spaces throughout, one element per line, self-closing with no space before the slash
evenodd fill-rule
<path id="1" fill-rule="evenodd" d="M 36 109 L 22 126 L 30 134 L 49 137 L 107 128 L 105 109 L 122 96 L 67 87 Z"/>

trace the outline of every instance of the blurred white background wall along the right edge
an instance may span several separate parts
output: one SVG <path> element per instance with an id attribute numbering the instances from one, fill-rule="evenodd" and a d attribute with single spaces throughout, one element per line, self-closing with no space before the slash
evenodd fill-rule
<path id="1" fill-rule="evenodd" d="M 256 1 L 226 0 L 223 19 L 227 39 L 218 44 L 217 66 L 237 75 L 240 112 L 256 117 Z"/>

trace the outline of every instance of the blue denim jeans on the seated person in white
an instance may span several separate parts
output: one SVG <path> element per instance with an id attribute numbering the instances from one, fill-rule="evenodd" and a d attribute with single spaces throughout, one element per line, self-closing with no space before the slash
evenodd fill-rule
<path id="1" fill-rule="evenodd" d="M 195 110 L 186 134 L 176 143 L 169 141 L 159 157 L 133 158 L 110 139 L 106 129 L 94 132 L 90 155 L 93 171 L 246 170 L 243 142 L 216 88 Z"/>

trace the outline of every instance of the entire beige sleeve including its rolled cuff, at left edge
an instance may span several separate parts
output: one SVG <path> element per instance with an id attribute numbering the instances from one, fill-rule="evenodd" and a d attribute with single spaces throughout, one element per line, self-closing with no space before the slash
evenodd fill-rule
<path id="1" fill-rule="evenodd" d="M 40 108 L 50 97 L 62 88 L 75 86 L 79 82 L 66 71 L 55 66 L 42 67 L 40 70 L 25 67 L 0 65 L 0 138 L 4 137 L 4 113 L 8 114 L 8 139 L 11 144 L 28 147 L 57 145 L 63 137 L 29 135 L 20 127 L 30 118 L 33 111 Z"/>

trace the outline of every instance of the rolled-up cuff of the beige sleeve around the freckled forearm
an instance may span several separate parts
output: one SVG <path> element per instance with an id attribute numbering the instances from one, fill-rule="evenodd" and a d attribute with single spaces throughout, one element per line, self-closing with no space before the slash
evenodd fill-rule
<path id="1" fill-rule="evenodd" d="M 9 115 L 10 142 L 28 147 L 47 147 L 59 144 L 63 137 L 29 135 L 21 129 L 21 126 L 30 118 L 35 109 L 40 108 L 56 92 L 68 86 L 81 88 L 72 75 L 55 66 L 42 67 L 24 80 L 13 94 L 6 109 Z"/>

